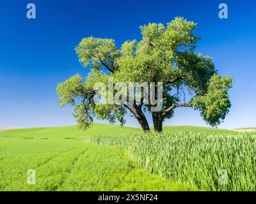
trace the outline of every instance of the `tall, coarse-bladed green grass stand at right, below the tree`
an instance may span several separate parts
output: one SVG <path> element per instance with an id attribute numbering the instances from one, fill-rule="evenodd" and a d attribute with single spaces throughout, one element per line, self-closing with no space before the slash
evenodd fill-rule
<path id="1" fill-rule="evenodd" d="M 211 131 L 176 129 L 163 134 L 94 137 L 90 141 L 116 147 L 149 173 L 200 190 L 256 191 L 256 136 Z M 224 185 L 220 184 L 221 170 L 227 170 Z"/>

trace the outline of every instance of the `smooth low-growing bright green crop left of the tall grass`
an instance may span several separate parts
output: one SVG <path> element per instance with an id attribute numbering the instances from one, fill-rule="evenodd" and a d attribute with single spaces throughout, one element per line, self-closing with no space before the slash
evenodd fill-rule
<path id="1" fill-rule="evenodd" d="M 97 126 L 85 133 L 76 127 L 1 132 L 0 191 L 196 190 L 141 170 L 113 148 L 81 140 L 101 135 L 102 129 L 109 135 L 120 133 L 118 126 Z M 27 184 L 29 169 L 35 170 L 35 184 Z"/>

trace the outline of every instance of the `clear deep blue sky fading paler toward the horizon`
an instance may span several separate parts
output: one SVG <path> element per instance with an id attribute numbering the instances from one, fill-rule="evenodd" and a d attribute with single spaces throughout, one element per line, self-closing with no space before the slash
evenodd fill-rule
<path id="1" fill-rule="evenodd" d="M 26 5 L 36 4 L 36 19 Z M 218 5 L 228 4 L 228 19 Z M 232 108 L 220 128 L 256 126 L 255 1 L 38 1 L 0 3 L 0 126 L 36 127 L 75 124 L 71 108 L 58 108 L 56 85 L 88 70 L 74 47 L 88 36 L 140 40 L 139 26 L 166 24 L 176 16 L 198 24 L 196 52 L 211 55 L 221 75 L 232 75 Z M 198 112 L 176 111 L 169 125 L 205 126 Z M 127 125 L 137 126 L 127 117 Z"/>

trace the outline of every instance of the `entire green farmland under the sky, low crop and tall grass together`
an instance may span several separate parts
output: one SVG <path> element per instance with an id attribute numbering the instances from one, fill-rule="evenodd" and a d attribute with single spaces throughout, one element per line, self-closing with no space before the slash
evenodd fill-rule
<path id="1" fill-rule="evenodd" d="M 255 147 L 253 134 L 194 126 L 162 135 L 108 124 L 0 131 L 0 191 L 255 190 Z"/>

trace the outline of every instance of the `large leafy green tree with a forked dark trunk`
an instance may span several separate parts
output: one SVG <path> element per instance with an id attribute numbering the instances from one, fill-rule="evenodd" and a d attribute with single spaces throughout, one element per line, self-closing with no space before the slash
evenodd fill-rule
<path id="1" fill-rule="evenodd" d="M 193 34 L 195 27 L 194 22 L 182 17 L 175 18 L 166 27 L 143 25 L 140 27 L 142 39 L 125 41 L 120 49 L 112 39 L 84 38 L 75 50 L 79 62 L 84 68 L 90 68 L 90 73 L 85 82 L 77 74 L 58 84 L 60 106 L 74 106 L 74 116 L 82 129 L 88 128 L 93 118 L 106 119 L 111 124 L 119 121 L 123 125 L 128 111 L 143 131 L 150 131 L 145 117 L 145 112 L 149 112 L 155 131 L 161 132 L 163 121 L 172 118 L 175 108 L 180 107 L 192 107 L 207 124 L 218 126 L 231 106 L 228 90 L 232 87 L 232 77 L 220 77 L 211 57 L 196 54 L 200 38 Z M 108 84 L 109 77 L 113 77 L 114 84 L 162 82 L 163 108 L 152 112 L 156 104 L 144 104 L 144 94 L 140 104 L 95 103 L 95 84 Z"/>

